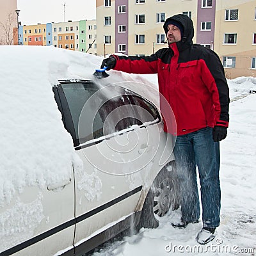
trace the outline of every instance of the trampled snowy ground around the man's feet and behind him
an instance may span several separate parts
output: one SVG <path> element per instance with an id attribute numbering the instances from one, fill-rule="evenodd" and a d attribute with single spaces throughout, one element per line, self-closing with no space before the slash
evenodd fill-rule
<path id="1" fill-rule="evenodd" d="M 149 77 L 154 81 L 154 77 Z M 93 256 L 256 255 L 256 79 L 228 80 L 230 126 L 221 141 L 221 224 L 212 243 L 201 246 L 196 234 L 202 221 L 184 230 L 171 226 L 170 212 L 156 229 L 141 229 L 122 241 L 106 244 Z"/>

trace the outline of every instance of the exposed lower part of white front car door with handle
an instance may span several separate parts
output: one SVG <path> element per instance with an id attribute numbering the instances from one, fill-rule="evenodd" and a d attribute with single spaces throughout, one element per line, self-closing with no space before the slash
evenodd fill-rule
<path id="1" fill-rule="evenodd" d="M 0 255 L 54 255 L 74 241 L 74 178 L 27 187 L 0 209 Z M 71 252 L 70 251 L 70 252 Z"/>

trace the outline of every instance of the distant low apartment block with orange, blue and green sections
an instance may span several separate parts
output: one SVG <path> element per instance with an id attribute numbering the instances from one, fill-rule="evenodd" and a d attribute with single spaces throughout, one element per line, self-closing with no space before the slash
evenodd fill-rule
<path id="1" fill-rule="evenodd" d="M 96 20 L 19 26 L 20 45 L 42 45 L 97 54 Z"/>

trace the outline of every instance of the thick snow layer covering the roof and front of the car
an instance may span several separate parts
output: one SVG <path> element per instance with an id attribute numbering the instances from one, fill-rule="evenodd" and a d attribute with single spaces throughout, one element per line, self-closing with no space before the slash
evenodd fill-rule
<path id="1" fill-rule="evenodd" d="M 72 138 L 61 121 L 52 86 L 60 79 L 94 79 L 102 58 L 55 47 L 0 46 L 0 207 L 26 186 L 43 188 L 72 175 L 81 166 Z M 147 79 L 109 71 L 104 83 L 129 81 L 145 94 Z M 138 84 L 134 83 L 138 81 Z M 120 84 L 122 85 L 122 84 Z M 148 97 L 157 102 L 157 90 Z"/>

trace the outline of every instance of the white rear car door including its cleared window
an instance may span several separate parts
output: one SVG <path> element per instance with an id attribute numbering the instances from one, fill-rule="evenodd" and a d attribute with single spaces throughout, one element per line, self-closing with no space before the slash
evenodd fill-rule
<path id="1" fill-rule="evenodd" d="M 76 246 L 134 212 L 154 161 L 154 136 L 148 132 L 159 133 L 159 115 L 147 101 L 115 86 L 61 83 L 59 91 L 83 162 L 74 173 Z"/>

